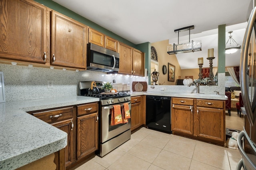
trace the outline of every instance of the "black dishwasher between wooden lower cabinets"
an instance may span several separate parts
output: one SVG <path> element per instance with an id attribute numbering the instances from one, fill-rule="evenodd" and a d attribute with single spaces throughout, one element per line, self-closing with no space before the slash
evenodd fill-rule
<path id="1" fill-rule="evenodd" d="M 146 96 L 146 125 L 149 129 L 171 133 L 171 97 Z"/>

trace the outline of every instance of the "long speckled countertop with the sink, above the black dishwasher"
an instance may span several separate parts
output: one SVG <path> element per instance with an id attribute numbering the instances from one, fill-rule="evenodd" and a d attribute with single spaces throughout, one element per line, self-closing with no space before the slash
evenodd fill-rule
<path id="1" fill-rule="evenodd" d="M 216 95 L 216 94 L 196 94 L 196 93 L 180 93 L 180 92 L 131 92 L 132 96 L 140 95 L 152 95 L 152 96 L 170 96 L 178 98 L 198 98 L 198 99 L 212 99 L 212 100 L 227 100 L 228 98 L 225 95 Z"/>

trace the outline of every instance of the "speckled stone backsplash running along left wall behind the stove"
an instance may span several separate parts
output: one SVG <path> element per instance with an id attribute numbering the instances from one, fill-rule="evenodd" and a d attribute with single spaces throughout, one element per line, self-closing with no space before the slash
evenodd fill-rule
<path id="1" fill-rule="evenodd" d="M 78 94 L 80 81 L 108 81 L 127 83 L 132 88 L 133 81 L 146 81 L 144 77 L 109 75 L 97 71 L 69 71 L 50 68 L 28 67 L 0 64 L 4 72 L 4 88 L 6 101 L 73 96 Z M 53 80 L 53 88 L 47 88 L 47 80 Z"/>

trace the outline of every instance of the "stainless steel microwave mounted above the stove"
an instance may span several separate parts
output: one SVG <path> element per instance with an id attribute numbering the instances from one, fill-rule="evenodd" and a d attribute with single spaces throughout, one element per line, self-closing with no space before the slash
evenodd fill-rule
<path id="1" fill-rule="evenodd" d="M 87 44 L 87 70 L 119 71 L 119 53 L 98 45 Z"/>

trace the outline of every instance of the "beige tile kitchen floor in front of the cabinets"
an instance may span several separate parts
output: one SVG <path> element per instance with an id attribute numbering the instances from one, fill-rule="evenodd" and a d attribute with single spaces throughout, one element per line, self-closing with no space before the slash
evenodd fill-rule
<path id="1" fill-rule="evenodd" d="M 103 158 L 92 156 L 75 170 L 235 170 L 240 159 L 235 149 L 142 127 Z"/>

